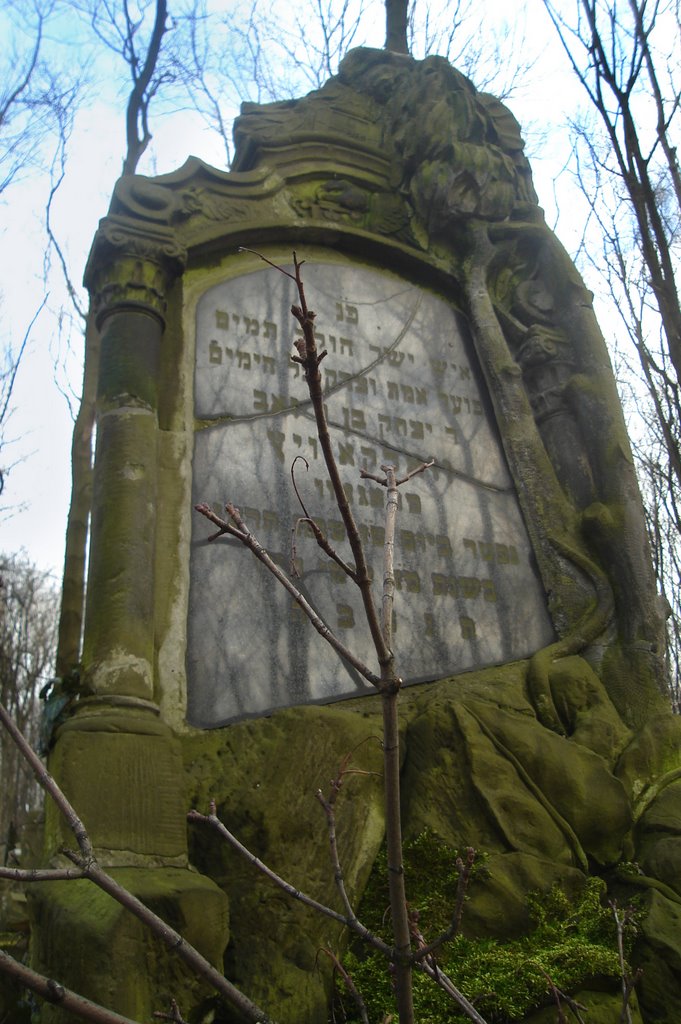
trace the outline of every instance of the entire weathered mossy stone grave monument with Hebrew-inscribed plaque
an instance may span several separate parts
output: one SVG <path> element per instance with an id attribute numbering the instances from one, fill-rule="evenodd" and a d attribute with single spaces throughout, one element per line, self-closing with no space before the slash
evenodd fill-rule
<path id="1" fill-rule="evenodd" d="M 664 624 L 606 349 L 537 205 L 518 126 L 442 58 L 355 50 L 303 99 L 245 104 L 235 134 L 228 173 L 189 159 L 122 179 L 94 240 L 82 686 L 52 770 L 133 891 L 214 962 L 224 955 L 278 1020 L 326 1022 L 326 925 L 283 906 L 206 836 L 191 831 L 187 847 L 184 829 L 187 806 L 213 798 L 254 852 L 332 899 L 311 794 L 350 750 L 367 771 L 378 761 L 376 698 L 249 553 L 209 542 L 193 511 L 233 502 L 288 565 L 303 514 L 293 468 L 309 514 L 343 544 L 290 359 L 291 283 L 255 254 L 287 267 L 295 250 L 372 558 L 383 495 L 359 470 L 434 459 L 401 495 L 397 529 L 407 835 L 488 854 L 467 911 L 477 934 L 521 932 L 527 893 L 554 883 L 598 874 L 642 893 L 637 1020 L 671 1024 L 681 758 Z M 294 556 L 310 603 L 370 657 L 356 596 L 304 525 Z M 380 785 L 363 784 L 339 810 L 355 900 L 383 833 Z M 60 842 L 50 817 L 48 852 Z M 622 865 L 634 861 L 632 881 Z M 38 962 L 96 991 L 108 949 L 143 949 L 148 969 L 121 981 L 117 1009 L 148 1014 L 174 986 L 204 1019 L 207 993 L 122 911 L 104 921 L 79 896 L 80 930 L 70 949 L 55 945 L 72 899 L 37 899 Z M 84 941 L 101 955 L 75 966 Z"/>

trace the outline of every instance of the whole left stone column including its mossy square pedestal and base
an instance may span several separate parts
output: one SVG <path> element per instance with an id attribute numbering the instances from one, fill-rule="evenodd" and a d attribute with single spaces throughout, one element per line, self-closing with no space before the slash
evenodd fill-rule
<path id="1" fill-rule="evenodd" d="M 219 965 L 226 898 L 189 869 L 180 745 L 154 692 L 158 388 L 166 293 L 183 265 L 171 231 L 116 217 L 101 222 L 90 255 L 101 354 L 82 692 L 49 767 L 100 863 Z M 73 845 L 49 803 L 45 834 L 49 857 Z M 146 1020 L 167 1009 L 164 991 L 189 1008 L 201 997 L 196 979 L 89 883 L 40 887 L 34 908 L 34 963 L 89 998 Z M 67 1018 L 48 1008 L 41 1020 Z"/>

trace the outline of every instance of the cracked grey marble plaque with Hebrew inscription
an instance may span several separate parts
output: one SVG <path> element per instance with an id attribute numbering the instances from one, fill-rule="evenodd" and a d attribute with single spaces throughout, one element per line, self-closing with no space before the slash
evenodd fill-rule
<path id="1" fill-rule="evenodd" d="M 375 579 L 382 580 L 385 489 L 359 477 L 390 462 L 403 474 L 395 545 L 398 672 L 436 679 L 533 653 L 553 638 L 529 540 L 465 319 L 438 296 L 360 266 L 304 267 L 331 432 Z M 293 282 L 274 269 L 216 285 L 197 311 L 193 501 L 236 504 L 283 566 L 303 512 L 296 482 L 350 559 L 302 371 Z M 188 719 L 217 726 L 274 708 L 367 692 L 266 568 L 237 541 L 212 544 L 193 522 Z M 299 585 L 353 652 L 378 672 L 358 591 L 296 530 Z M 380 602 L 380 585 L 375 584 Z"/>

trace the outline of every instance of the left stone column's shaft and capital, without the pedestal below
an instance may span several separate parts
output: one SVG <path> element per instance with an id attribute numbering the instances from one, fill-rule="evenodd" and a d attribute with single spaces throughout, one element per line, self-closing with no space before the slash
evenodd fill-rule
<path id="1" fill-rule="evenodd" d="M 101 334 L 83 666 L 96 696 L 153 700 L 158 386 L 172 236 L 102 221 L 88 285 Z"/>

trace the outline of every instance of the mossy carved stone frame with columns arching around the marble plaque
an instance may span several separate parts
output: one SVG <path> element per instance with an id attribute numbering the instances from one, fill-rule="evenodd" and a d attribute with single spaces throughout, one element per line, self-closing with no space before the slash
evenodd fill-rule
<path id="1" fill-rule="evenodd" d="M 93 517 L 84 645 L 85 687 L 93 697 L 148 699 L 173 728 L 190 728 L 184 657 L 194 323 L 183 310 L 211 284 L 246 267 L 255 271 L 256 258 L 240 255 L 241 247 L 266 250 L 283 262 L 295 248 L 310 262 L 315 254 L 332 253 L 340 261 L 389 267 L 462 310 L 557 638 L 546 658 L 589 648 L 597 665 L 609 656 L 604 638 L 616 620 L 627 656 L 640 662 L 646 679 L 658 671 L 662 643 L 650 642 L 648 655 L 637 639 L 659 636 L 654 581 L 631 498 L 633 470 L 620 460 L 615 472 L 605 456 L 606 450 L 625 452 L 626 439 L 588 293 L 534 204 L 517 126 L 501 104 L 478 97 L 481 105 L 466 122 L 470 139 L 457 142 L 453 169 L 442 163 L 439 142 L 419 159 L 409 146 L 399 148 L 399 119 L 380 82 L 406 68 L 390 55 L 357 52 L 338 79 L 293 106 L 245 109 L 233 171 L 190 159 L 173 174 L 122 179 L 116 187 L 86 273 L 102 331 L 101 425 L 123 429 L 125 421 L 132 442 L 132 424 L 141 429 L 141 413 L 148 410 L 142 447 L 151 461 L 145 483 L 131 482 L 125 495 L 133 503 L 133 526 L 113 523 L 105 509 L 111 488 L 104 476 L 119 472 L 116 458 L 108 457 L 103 475 L 95 472 L 101 511 Z M 441 78 L 444 91 L 461 93 L 464 108 L 473 102 L 465 80 L 446 63 L 414 68 L 415 88 L 422 75 L 429 88 Z M 356 129 L 347 137 L 331 127 L 344 111 Z M 287 134 L 283 125 L 290 118 L 295 130 Z M 479 118 L 486 119 L 491 146 L 484 155 L 473 130 Z M 416 137 L 420 128 L 413 128 Z M 476 189 L 484 193 L 482 205 L 472 202 Z M 558 279 L 565 282 L 560 289 Z M 123 362 L 108 352 L 123 353 Z M 578 391 L 588 400 L 573 400 Z M 129 470 L 122 466 L 121 472 Z M 127 591 L 139 599 L 134 607 L 121 599 L 120 615 L 111 613 L 119 572 L 101 553 L 97 535 L 104 534 L 116 537 L 120 550 L 136 545 L 140 552 L 126 558 L 125 569 Z M 140 572 L 152 551 L 152 571 Z M 625 592 L 635 594 L 635 606 L 627 599 L 626 622 Z M 555 722 L 546 673 L 531 675 L 547 724 Z M 619 707 L 627 703 L 622 694 L 615 699 Z"/>

